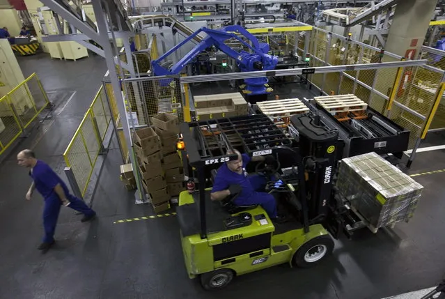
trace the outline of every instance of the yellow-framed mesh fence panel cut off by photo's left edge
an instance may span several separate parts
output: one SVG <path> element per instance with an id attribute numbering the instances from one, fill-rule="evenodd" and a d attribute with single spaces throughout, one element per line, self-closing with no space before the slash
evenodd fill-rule
<path id="1" fill-rule="evenodd" d="M 0 154 L 22 134 L 17 116 L 13 112 L 8 98 L 0 99 Z"/>

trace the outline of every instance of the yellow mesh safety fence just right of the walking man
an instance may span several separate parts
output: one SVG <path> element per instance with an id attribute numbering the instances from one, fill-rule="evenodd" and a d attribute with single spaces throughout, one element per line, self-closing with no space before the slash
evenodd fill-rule
<path id="1" fill-rule="evenodd" d="M 103 141 L 111 120 L 106 90 L 100 86 L 79 128 L 63 153 L 66 166 L 71 167 L 82 196 L 93 175 L 97 157 L 104 150 Z"/>

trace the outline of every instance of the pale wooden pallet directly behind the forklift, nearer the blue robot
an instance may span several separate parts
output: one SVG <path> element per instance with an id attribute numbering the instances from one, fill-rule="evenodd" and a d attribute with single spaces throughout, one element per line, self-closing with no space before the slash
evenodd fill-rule
<path id="1" fill-rule="evenodd" d="M 266 114 L 272 118 L 289 117 L 294 114 L 309 112 L 309 108 L 297 98 L 257 102 L 256 105 L 258 106 L 258 109 L 263 112 L 263 114 Z"/>

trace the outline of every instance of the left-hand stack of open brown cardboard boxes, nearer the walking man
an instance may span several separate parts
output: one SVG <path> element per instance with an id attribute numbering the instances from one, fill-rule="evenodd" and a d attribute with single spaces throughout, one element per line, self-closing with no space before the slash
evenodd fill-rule
<path id="1" fill-rule="evenodd" d="M 142 186 L 151 199 L 156 213 L 170 208 L 170 195 L 162 171 L 161 141 L 153 128 L 143 128 L 136 131 L 134 147 L 140 160 L 139 171 Z"/>

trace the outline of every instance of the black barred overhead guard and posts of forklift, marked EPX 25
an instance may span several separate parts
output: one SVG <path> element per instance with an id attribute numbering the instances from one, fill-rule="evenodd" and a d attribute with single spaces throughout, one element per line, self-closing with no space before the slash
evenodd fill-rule
<path id="1" fill-rule="evenodd" d="M 274 155 L 281 158 L 281 167 L 304 169 L 302 156 L 299 154 L 299 149 L 293 146 L 293 140 L 264 114 L 181 123 L 180 132 L 187 153 L 183 164 L 194 167 L 196 171 L 192 173 L 198 178 L 201 238 L 207 236 L 206 178 L 210 178 L 210 170 L 216 169 L 221 163 L 237 160 L 237 155 L 228 154 L 228 150 L 236 148 L 251 157 Z M 298 171 L 298 181 L 304 231 L 308 232 L 309 217 L 304 171 Z"/>

